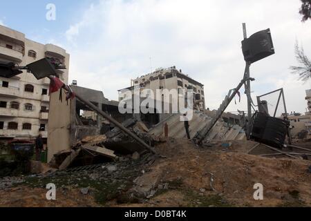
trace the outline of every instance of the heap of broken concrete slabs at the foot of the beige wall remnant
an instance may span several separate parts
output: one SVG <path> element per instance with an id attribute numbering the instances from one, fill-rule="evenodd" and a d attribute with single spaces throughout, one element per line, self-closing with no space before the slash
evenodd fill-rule
<path id="1" fill-rule="evenodd" d="M 165 142 L 162 137 L 149 134 L 147 126 L 136 119 L 127 119 L 122 125 L 150 146 Z M 55 154 L 51 164 L 63 170 L 70 165 L 81 166 L 117 160 L 117 155 L 132 155 L 133 159 L 138 159 L 146 152 L 132 137 L 115 127 L 104 135 L 84 137 L 73 144 L 70 150 Z"/>

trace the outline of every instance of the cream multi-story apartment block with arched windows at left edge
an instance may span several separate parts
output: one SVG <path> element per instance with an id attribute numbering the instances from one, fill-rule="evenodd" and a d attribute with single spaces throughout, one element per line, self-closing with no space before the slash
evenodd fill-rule
<path id="1" fill-rule="evenodd" d="M 68 83 L 69 55 L 53 44 L 39 44 L 16 30 L 0 26 L 0 62 L 26 66 L 44 57 L 54 57 L 66 65 L 57 70 Z M 50 79 L 37 80 L 24 70 L 10 79 L 0 77 L 0 139 L 12 140 L 36 137 L 41 130 L 47 137 Z"/>

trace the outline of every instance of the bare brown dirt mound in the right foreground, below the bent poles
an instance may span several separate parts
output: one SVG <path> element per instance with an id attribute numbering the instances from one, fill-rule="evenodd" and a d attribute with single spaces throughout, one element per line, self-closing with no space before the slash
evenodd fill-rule
<path id="1" fill-rule="evenodd" d="M 221 148 L 211 151 L 187 140 L 169 140 L 158 146 L 158 151 L 168 158 L 158 160 L 140 177 L 140 189 L 148 189 L 153 183 L 161 192 L 157 184 L 168 183 L 171 188 L 167 191 L 178 190 L 187 196 L 191 189 L 194 198 L 218 195 L 224 204 L 232 206 L 311 206 L 308 161 L 228 153 Z M 263 184 L 262 201 L 253 198 L 256 183 Z M 204 200 L 208 199 L 199 202 Z"/>

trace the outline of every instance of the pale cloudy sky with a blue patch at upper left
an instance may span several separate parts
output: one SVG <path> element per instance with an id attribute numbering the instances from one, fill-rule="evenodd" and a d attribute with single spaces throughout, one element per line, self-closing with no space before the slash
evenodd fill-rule
<path id="1" fill-rule="evenodd" d="M 46 5 L 56 17 L 46 19 Z M 297 65 L 294 44 L 311 57 L 311 21 L 301 22 L 300 0 L 76 0 L 3 1 L 0 24 L 28 39 L 56 44 L 70 53 L 69 81 L 102 90 L 117 99 L 130 79 L 156 68 L 176 66 L 205 85 L 206 106 L 216 109 L 243 78 L 242 23 L 247 35 L 270 28 L 275 55 L 252 64 L 252 97 L 284 89 L 288 112 L 305 112 L 305 90 L 290 66 Z M 241 89 L 227 111 L 246 111 Z M 278 95 L 265 97 L 273 113 Z M 283 104 L 278 114 L 283 113 Z"/>

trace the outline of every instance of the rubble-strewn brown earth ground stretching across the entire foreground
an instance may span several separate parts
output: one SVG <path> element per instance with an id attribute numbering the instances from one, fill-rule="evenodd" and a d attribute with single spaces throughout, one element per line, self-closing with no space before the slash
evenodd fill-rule
<path id="1" fill-rule="evenodd" d="M 309 160 L 249 155 L 252 142 L 188 140 L 156 146 L 165 157 L 121 157 L 95 171 L 57 172 L 0 180 L 0 206 L 311 206 Z M 46 184 L 57 186 L 46 200 Z M 254 184 L 263 200 L 254 200 Z"/>

